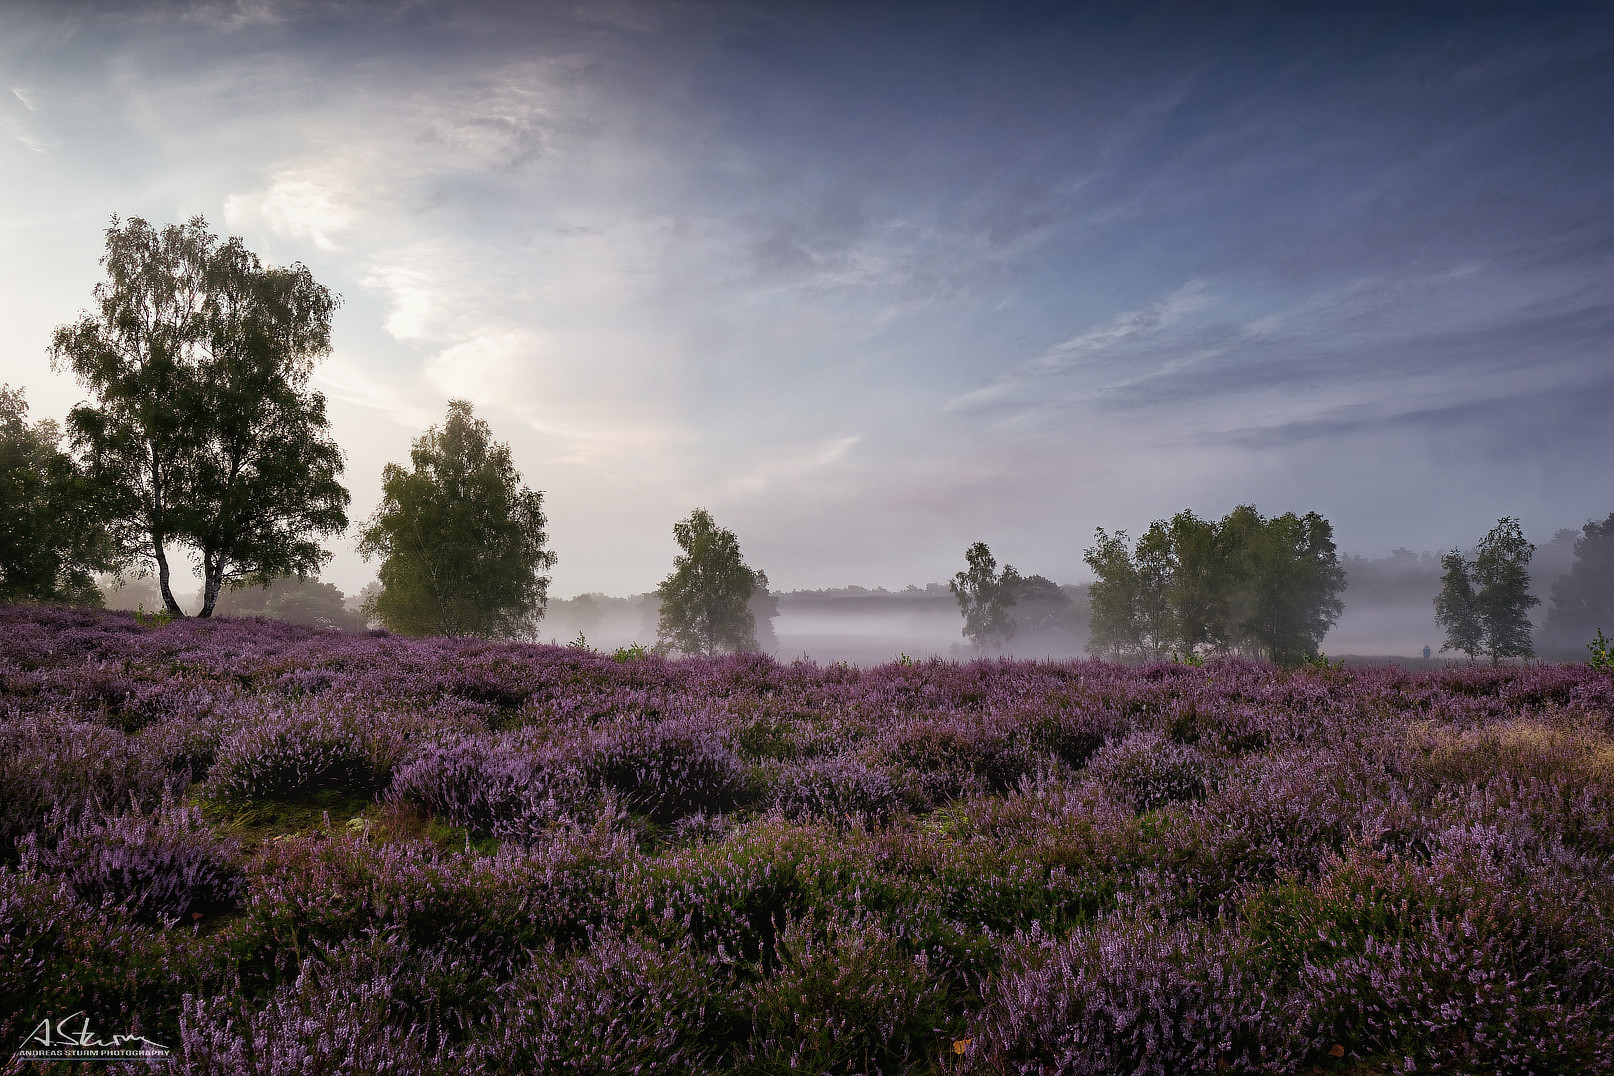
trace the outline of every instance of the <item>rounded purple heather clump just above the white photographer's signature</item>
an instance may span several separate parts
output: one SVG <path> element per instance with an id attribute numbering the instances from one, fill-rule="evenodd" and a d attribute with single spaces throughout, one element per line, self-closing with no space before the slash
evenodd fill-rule
<path id="1" fill-rule="evenodd" d="M 68 821 L 50 844 L 24 839 L 24 860 L 65 878 L 90 907 L 147 921 L 181 920 L 234 905 L 239 845 L 213 834 L 195 808 L 165 803 L 157 815 Z"/>

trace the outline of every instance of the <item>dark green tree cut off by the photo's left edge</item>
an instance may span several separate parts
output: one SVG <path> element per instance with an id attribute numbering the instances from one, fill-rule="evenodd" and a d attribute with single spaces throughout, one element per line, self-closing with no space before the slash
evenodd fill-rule
<path id="1" fill-rule="evenodd" d="M 27 423 L 21 389 L 0 386 L 0 600 L 102 605 L 94 573 L 111 544 L 95 490 L 58 448 L 50 419 Z"/>

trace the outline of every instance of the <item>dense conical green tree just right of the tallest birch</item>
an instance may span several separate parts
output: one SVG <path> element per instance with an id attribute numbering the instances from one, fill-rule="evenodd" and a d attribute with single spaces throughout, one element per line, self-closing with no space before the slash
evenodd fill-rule
<path id="1" fill-rule="evenodd" d="M 521 484 L 510 447 L 465 400 L 410 450 L 412 468 L 381 471 L 381 503 L 358 537 L 381 557 L 366 605 L 404 636 L 533 637 L 555 555 L 544 548 L 544 494 Z"/>

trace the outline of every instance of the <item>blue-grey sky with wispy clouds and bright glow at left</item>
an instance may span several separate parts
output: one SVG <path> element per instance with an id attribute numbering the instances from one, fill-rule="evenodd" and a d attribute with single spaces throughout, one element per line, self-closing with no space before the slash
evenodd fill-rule
<path id="1" fill-rule="evenodd" d="M 550 594 L 705 507 L 776 590 L 1060 582 L 1094 528 L 1341 553 L 1614 511 L 1608 5 L 0 3 L 0 382 L 110 219 L 339 292 L 355 526 L 468 398 Z"/>

